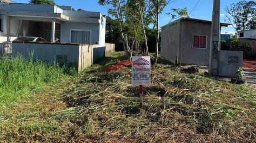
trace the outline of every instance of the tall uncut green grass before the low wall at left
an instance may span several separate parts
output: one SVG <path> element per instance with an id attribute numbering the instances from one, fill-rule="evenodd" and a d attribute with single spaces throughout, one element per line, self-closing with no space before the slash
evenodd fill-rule
<path id="1" fill-rule="evenodd" d="M 58 81 L 65 76 L 63 68 L 33 59 L 26 60 L 22 56 L 0 59 L 0 105 L 28 97 L 43 84 Z"/>

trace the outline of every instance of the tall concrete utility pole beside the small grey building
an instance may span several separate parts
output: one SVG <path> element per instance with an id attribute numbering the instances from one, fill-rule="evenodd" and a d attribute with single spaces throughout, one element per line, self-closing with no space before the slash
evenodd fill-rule
<path id="1" fill-rule="evenodd" d="M 213 1 L 211 44 L 209 54 L 209 75 L 218 75 L 220 51 L 220 0 Z"/>

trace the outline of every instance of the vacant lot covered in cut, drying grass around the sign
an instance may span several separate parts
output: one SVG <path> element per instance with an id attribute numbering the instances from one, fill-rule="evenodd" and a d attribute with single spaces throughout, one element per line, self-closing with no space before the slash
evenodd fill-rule
<path id="1" fill-rule="evenodd" d="M 182 73 L 161 61 L 140 107 L 130 67 L 105 72 L 122 55 L 114 52 L 80 75 L 42 82 L 29 98 L 1 107 L 0 142 L 256 141 L 252 88 Z"/>

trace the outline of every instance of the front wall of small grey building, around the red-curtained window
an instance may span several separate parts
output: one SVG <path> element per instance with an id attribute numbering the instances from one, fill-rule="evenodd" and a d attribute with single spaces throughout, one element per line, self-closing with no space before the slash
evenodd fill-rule
<path id="1" fill-rule="evenodd" d="M 182 20 L 182 53 L 179 60 L 187 65 L 209 65 L 211 24 Z M 206 48 L 193 48 L 194 35 L 206 35 Z"/>

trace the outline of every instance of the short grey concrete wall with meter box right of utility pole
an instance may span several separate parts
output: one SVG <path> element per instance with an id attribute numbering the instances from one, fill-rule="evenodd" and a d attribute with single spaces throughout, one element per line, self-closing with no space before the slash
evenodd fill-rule
<path id="1" fill-rule="evenodd" d="M 219 52 L 219 76 L 236 77 L 239 67 L 243 67 L 243 51 Z"/>

